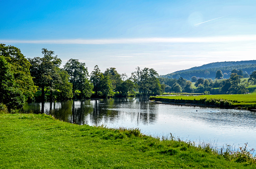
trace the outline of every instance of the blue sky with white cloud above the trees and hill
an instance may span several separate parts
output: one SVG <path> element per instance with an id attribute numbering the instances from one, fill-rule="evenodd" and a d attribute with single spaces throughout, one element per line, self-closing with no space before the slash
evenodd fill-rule
<path id="1" fill-rule="evenodd" d="M 256 1 L 1 1 L 0 43 L 52 50 L 89 72 L 159 74 L 256 59 Z"/>

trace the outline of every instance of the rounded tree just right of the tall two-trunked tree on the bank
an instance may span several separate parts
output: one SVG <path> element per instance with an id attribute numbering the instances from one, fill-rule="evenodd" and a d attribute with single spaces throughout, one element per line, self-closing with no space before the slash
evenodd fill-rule
<path id="1" fill-rule="evenodd" d="M 64 65 L 64 70 L 67 71 L 70 76 L 69 81 L 73 86 L 73 94 L 75 94 L 75 90 L 79 90 L 82 97 L 91 97 L 93 93 L 93 84 L 89 80 L 86 64 L 79 62 L 77 59 L 69 59 Z"/>

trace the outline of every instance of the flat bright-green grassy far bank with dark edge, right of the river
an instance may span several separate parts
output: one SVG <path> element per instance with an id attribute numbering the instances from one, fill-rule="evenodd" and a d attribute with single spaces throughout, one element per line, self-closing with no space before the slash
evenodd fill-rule
<path id="1" fill-rule="evenodd" d="M 256 93 L 250 94 L 220 94 L 220 95 L 199 95 L 199 96 L 150 96 L 149 100 L 156 102 L 183 103 L 197 105 L 211 105 L 224 108 L 245 108 L 255 109 Z"/>

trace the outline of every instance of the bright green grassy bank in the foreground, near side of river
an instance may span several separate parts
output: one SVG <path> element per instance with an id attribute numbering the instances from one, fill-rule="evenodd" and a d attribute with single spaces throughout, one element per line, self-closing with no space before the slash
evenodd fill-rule
<path id="1" fill-rule="evenodd" d="M 247 155 L 61 122 L 45 114 L 0 114 L 0 168 L 255 168 Z"/>

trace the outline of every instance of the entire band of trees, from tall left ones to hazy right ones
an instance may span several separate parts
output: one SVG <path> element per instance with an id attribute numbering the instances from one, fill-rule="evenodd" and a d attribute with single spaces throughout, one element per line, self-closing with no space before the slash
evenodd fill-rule
<path id="1" fill-rule="evenodd" d="M 0 111 L 22 108 L 26 101 L 54 101 L 72 98 L 159 95 L 163 92 L 205 94 L 240 94 L 248 92 L 249 83 L 256 84 L 256 71 L 248 82 L 241 80 L 244 72 L 233 69 L 228 79 L 221 70 L 215 80 L 193 76 L 163 78 L 152 68 L 137 67 L 131 76 L 116 68 L 101 72 L 96 65 L 89 74 L 85 63 L 69 59 L 60 68 L 61 59 L 53 51 L 42 49 L 42 57 L 28 58 L 14 46 L 0 44 Z"/>

